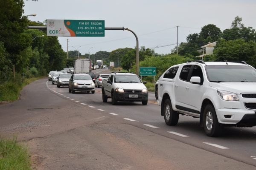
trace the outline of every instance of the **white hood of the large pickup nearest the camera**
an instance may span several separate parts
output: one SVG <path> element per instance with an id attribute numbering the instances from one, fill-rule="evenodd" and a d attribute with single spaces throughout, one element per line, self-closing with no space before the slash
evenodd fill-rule
<path id="1" fill-rule="evenodd" d="M 210 82 L 210 86 L 236 94 L 256 93 L 256 82 Z"/>

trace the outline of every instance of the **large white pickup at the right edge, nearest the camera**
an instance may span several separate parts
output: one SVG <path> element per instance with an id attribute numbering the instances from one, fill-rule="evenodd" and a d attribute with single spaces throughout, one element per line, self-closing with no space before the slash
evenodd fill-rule
<path id="1" fill-rule="evenodd" d="M 207 136 L 217 136 L 224 126 L 256 125 L 256 70 L 246 62 L 174 65 L 157 88 L 167 125 L 176 125 L 180 114 L 200 118 Z"/>

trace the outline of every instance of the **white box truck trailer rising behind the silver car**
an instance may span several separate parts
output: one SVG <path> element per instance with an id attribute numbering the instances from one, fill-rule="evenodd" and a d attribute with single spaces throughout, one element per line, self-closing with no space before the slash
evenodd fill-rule
<path id="1" fill-rule="evenodd" d="M 86 74 L 91 71 L 92 62 L 90 59 L 76 59 L 74 73 Z"/>

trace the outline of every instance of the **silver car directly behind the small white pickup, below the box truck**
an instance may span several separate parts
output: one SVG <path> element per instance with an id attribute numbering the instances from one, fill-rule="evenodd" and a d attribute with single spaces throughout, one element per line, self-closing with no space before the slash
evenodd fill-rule
<path id="1" fill-rule="evenodd" d="M 95 93 L 95 84 L 88 74 L 73 74 L 69 80 L 68 92 L 87 91 Z"/>

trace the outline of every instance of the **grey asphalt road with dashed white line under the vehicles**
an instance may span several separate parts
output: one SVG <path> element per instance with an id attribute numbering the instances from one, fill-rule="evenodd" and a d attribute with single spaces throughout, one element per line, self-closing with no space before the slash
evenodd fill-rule
<path id="1" fill-rule="evenodd" d="M 0 105 L 0 130 L 19 134 L 37 169 L 256 169 L 256 127 L 226 127 L 212 138 L 198 118 L 167 126 L 154 94 L 148 105 L 108 100 L 101 88 L 71 94 L 41 79 Z"/>

